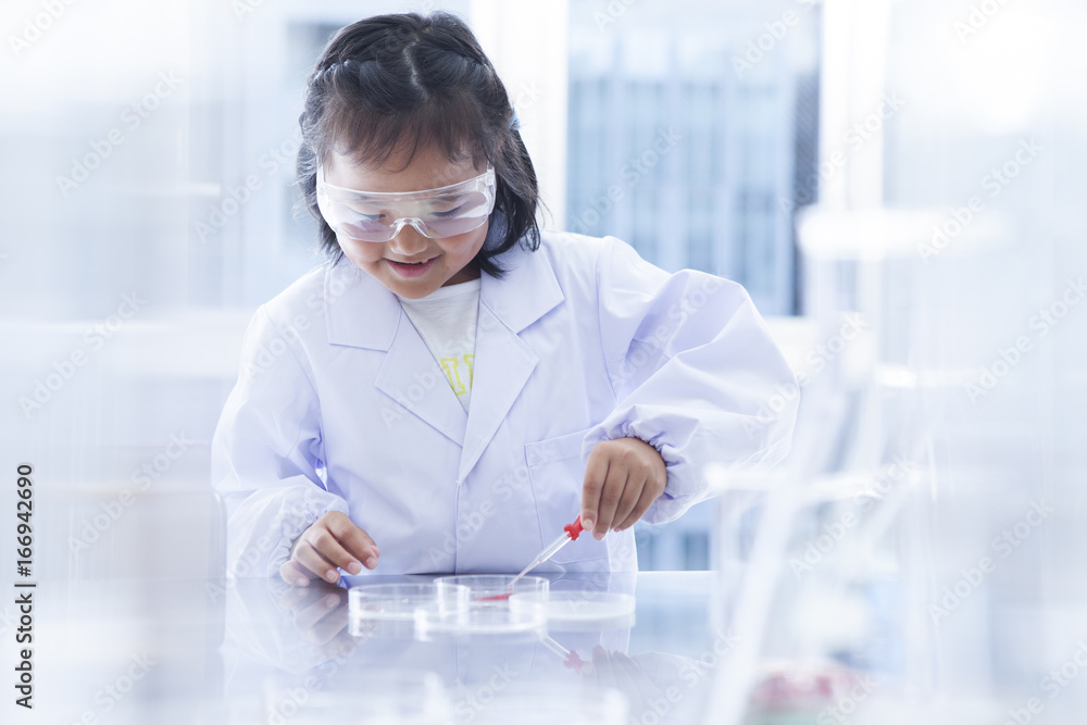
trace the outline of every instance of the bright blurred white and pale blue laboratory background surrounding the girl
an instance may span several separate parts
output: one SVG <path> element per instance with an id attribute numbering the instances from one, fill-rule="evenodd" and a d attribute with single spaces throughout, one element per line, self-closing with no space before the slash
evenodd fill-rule
<path id="1" fill-rule="evenodd" d="M 752 664 L 1083 712 L 1044 679 L 1087 637 L 1082 0 L 5 2 L 0 470 L 34 466 L 40 576 L 216 572 L 241 334 L 322 262 L 307 74 L 338 27 L 435 9 L 504 79 L 546 225 L 744 284 L 800 376 L 780 473 L 708 473 L 641 567 L 742 590 Z"/>

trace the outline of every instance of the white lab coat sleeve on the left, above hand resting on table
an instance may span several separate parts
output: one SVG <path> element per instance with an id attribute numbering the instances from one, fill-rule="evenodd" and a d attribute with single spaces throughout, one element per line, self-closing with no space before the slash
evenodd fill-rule
<path id="1" fill-rule="evenodd" d="M 227 572 L 276 576 L 302 532 L 329 511 L 321 411 L 298 341 L 262 305 L 246 330 L 238 382 L 212 439 L 212 480 L 227 508 Z"/>

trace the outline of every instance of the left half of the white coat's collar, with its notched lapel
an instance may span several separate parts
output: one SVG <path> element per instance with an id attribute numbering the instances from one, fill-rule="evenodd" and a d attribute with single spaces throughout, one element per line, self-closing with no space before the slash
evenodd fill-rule
<path id="1" fill-rule="evenodd" d="M 325 276 L 325 302 L 329 343 L 386 351 L 377 389 L 460 446 L 464 408 L 396 295 L 345 261 Z"/>

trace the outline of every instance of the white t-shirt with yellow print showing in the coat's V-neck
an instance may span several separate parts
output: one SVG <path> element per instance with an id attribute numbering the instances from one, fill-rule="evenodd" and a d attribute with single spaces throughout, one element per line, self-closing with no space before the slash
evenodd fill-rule
<path id="1" fill-rule="evenodd" d="M 467 411 L 472 399 L 479 279 L 439 287 L 417 300 L 400 297 L 400 304 Z"/>

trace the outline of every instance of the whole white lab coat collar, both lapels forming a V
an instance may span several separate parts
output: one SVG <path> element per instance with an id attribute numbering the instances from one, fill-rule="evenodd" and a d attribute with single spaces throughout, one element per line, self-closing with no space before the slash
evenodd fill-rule
<path id="1" fill-rule="evenodd" d="M 396 295 L 346 259 L 325 275 L 329 343 L 388 353 L 374 384 L 462 446 L 458 482 L 479 460 L 536 368 L 538 358 L 518 333 L 563 301 L 545 252 L 516 247 L 496 261 L 508 272 L 502 279 L 487 274 L 480 279 L 468 414 Z"/>

